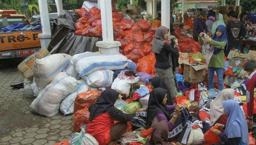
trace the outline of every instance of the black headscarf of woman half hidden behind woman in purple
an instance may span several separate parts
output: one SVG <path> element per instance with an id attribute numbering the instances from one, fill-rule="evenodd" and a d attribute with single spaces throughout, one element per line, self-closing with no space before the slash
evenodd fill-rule
<path id="1" fill-rule="evenodd" d="M 166 84 L 162 81 L 162 79 L 158 76 L 149 79 L 149 81 L 151 82 L 151 84 L 153 85 L 154 88 L 163 88 L 168 90 Z M 171 94 L 169 91 L 167 91 L 167 102 L 166 105 L 173 105 L 173 99 L 171 98 Z"/>

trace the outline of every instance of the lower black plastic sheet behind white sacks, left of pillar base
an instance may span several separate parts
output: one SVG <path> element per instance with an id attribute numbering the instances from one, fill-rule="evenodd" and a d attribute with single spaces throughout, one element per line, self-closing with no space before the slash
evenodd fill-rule
<path id="1" fill-rule="evenodd" d="M 101 41 L 98 37 L 87 37 L 76 35 L 74 32 L 67 34 L 53 49 L 51 54 L 65 53 L 71 56 L 86 51 L 97 52 L 99 47 L 95 46 L 97 41 Z"/>

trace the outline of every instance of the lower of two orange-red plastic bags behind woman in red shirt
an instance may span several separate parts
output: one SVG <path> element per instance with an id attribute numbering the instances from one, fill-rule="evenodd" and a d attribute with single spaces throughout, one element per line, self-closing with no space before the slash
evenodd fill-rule
<path id="1" fill-rule="evenodd" d="M 73 132 L 80 132 L 80 127 L 89 124 L 90 112 L 88 108 L 76 111 L 74 115 Z"/>

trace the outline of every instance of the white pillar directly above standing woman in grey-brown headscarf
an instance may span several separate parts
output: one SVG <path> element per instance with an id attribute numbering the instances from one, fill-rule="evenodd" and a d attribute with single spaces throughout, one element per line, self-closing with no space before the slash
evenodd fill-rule
<path id="1" fill-rule="evenodd" d="M 161 1 L 161 22 L 162 26 L 170 29 L 170 0 Z"/>

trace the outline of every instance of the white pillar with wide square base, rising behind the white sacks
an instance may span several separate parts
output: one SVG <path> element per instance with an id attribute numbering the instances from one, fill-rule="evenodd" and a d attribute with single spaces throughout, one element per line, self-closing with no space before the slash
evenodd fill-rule
<path id="1" fill-rule="evenodd" d="M 103 54 L 119 52 L 121 42 L 114 41 L 111 0 L 99 0 L 102 23 L 102 41 L 96 42 L 99 51 Z"/>

